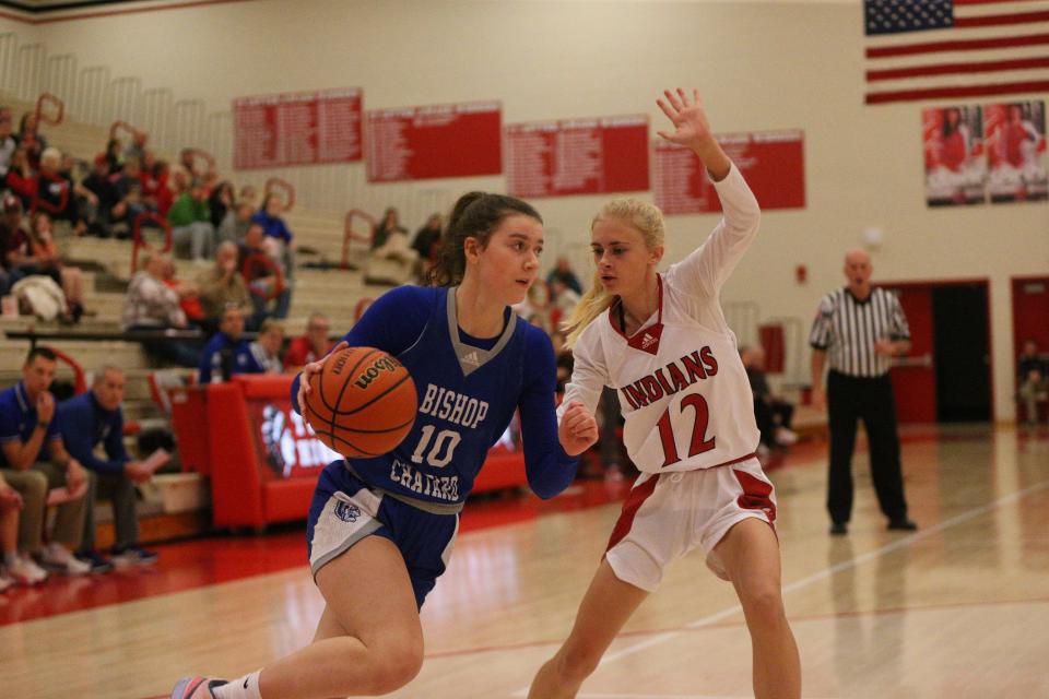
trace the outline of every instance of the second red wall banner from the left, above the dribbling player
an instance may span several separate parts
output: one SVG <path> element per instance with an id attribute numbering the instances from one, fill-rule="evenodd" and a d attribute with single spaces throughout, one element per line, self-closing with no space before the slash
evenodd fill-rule
<path id="1" fill-rule="evenodd" d="M 503 173 L 498 102 L 367 112 L 369 182 Z"/>

